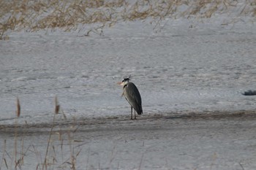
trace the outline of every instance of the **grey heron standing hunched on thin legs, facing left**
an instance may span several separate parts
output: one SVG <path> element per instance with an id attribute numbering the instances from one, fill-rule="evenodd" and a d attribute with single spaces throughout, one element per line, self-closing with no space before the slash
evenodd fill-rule
<path id="1" fill-rule="evenodd" d="M 124 96 L 127 99 L 129 105 L 131 105 L 131 120 L 132 120 L 132 108 L 138 113 L 138 115 L 143 114 L 141 106 L 141 97 L 140 92 L 135 84 L 129 82 L 129 77 L 124 78 L 121 82 L 118 82 L 118 85 L 123 86 L 123 93 L 121 96 Z M 136 113 L 135 113 L 136 119 Z"/>

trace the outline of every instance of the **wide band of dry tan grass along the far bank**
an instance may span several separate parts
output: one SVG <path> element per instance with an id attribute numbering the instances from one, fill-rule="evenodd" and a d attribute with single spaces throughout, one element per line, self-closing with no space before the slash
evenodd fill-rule
<path id="1" fill-rule="evenodd" d="M 227 12 L 230 8 L 238 9 L 238 15 L 256 15 L 255 0 L 240 4 L 233 0 L 0 0 L 0 38 L 8 39 L 4 36 L 8 30 L 63 28 L 70 31 L 91 23 L 113 26 L 120 20 L 211 18 L 215 12 Z"/>

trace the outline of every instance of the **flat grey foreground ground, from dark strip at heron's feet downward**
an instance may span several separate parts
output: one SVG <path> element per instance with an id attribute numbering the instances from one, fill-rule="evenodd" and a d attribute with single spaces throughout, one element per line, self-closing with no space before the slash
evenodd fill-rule
<path id="1" fill-rule="evenodd" d="M 9 155 L 15 141 L 23 145 L 21 169 L 42 169 L 49 131 L 48 169 L 71 169 L 70 155 L 76 169 L 256 169 L 255 120 L 253 111 L 189 113 L 56 121 L 53 130 L 50 124 L 5 125 L 0 131 Z M 7 154 L 1 158 L 11 162 Z"/>

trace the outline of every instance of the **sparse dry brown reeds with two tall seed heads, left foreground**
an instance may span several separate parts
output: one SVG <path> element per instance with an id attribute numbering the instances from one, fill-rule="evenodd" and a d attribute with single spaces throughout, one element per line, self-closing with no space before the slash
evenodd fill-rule
<path id="1" fill-rule="evenodd" d="M 37 166 L 34 169 L 53 169 L 53 167 L 59 167 L 61 169 L 76 169 L 76 159 L 80 154 L 80 149 L 73 146 L 75 131 L 77 128 L 75 127 L 75 121 L 71 125 L 70 128 L 65 129 L 64 131 L 61 130 L 61 125 L 56 123 L 56 114 L 53 116 L 53 123 L 51 124 L 51 128 L 49 131 L 49 137 L 47 140 L 47 147 L 45 150 L 37 150 L 37 147 L 34 144 L 30 144 L 29 146 L 26 144 L 26 125 L 19 125 L 18 119 L 20 114 L 20 101 L 17 97 L 16 99 L 16 116 L 15 117 L 15 125 L 13 129 L 13 150 L 7 150 L 8 142 L 4 140 L 4 145 L 1 147 L 2 155 L 1 155 L 1 163 L 0 163 L 0 170 L 1 169 L 23 169 L 25 162 L 29 162 L 28 155 L 34 155 L 37 159 Z M 55 98 L 55 108 L 60 108 L 58 98 Z M 56 111 L 56 109 L 55 109 Z M 62 111 L 62 110 L 61 110 Z M 56 112 L 55 112 L 56 113 Z M 59 110 L 58 110 L 59 113 Z M 62 115 L 64 120 L 67 120 L 66 115 L 62 111 Z M 23 127 L 25 126 L 25 127 Z M 22 128 L 23 130 L 20 130 Z M 56 133 L 58 131 L 58 133 Z M 54 135 L 53 135 L 54 134 Z M 53 136 L 59 134 L 59 139 L 56 139 Z M 64 135 L 67 136 L 64 139 Z M 65 142 L 65 144 L 64 144 Z M 24 146 L 26 144 L 26 147 Z M 66 148 L 67 147 L 67 148 Z M 69 150 L 70 155 L 67 158 L 67 155 L 64 155 L 64 150 Z M 44 152 L 45 151 L 45 152 Z M 61 153 L 61 156 L 59 155 Z M 62 158 L 62 160 L 60 160 Z"/>

